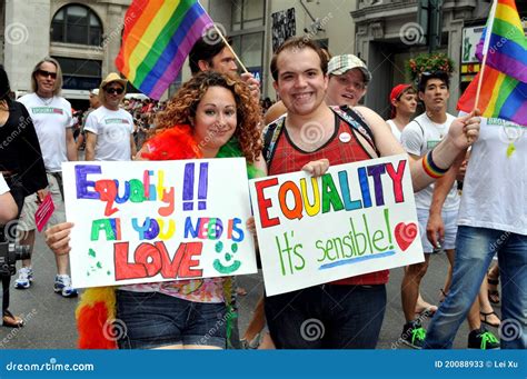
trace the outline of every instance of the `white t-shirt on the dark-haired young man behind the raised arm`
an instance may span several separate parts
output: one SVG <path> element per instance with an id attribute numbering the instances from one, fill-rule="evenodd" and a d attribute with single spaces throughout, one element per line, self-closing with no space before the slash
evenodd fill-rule
<path id="1" fill-rule="evenodd" d="M 434 149 L 448 133 L 450 123 L 456 118 L 447 113 L 445 123 L 432 122 L 426 113 L 422 113 L 410 121 L 402 130 L 400 142 L 410 154 L 422 157 Z M 434 183 L 415 193 L 417 209 L 430 209 L 431 197 L 434 195 Z M 454 183 L 448 193 L 443 209 L 453 210 L 459 207 L 459 195 L 457 184 Z"/>

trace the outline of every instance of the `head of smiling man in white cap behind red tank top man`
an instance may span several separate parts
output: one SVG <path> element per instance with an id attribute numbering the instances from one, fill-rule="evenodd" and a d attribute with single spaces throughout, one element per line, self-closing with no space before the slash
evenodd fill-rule
<path id="1" fill-rule="evenodd" d="M 336 56 L 328 63 L 328 106 L 356 107 L 366 94 L 371 72 L 360 58 L 354 54 Z"/>

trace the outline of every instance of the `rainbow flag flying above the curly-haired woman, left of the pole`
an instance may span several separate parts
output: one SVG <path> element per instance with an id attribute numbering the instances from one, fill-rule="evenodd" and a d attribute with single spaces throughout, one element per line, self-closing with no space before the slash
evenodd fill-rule
<path id="1" fill-rule="evenodd" d="M 133 0 L 116 66 L 137 89 L 159 99 L 212 24 L 197 0 Z"/>

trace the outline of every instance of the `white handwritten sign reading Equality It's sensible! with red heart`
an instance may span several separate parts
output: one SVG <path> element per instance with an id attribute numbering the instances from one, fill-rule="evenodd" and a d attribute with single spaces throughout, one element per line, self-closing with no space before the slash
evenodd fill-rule
<path id="1" fill-rule="evenodd" d="M 406 154 L 250 190 L 268 296 L 424 261 Z"/>

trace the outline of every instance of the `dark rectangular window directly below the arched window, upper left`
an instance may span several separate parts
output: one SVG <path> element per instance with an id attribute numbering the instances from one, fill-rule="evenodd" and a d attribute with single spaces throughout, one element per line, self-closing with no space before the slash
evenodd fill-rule
<path id="1" fill-rule="evenodd" d="M 63 88 L 74 90 L 91 90 L 101 82 L 101 66 L 99 60 L 54 57 L 60 63 L 63 77 Z"/>

